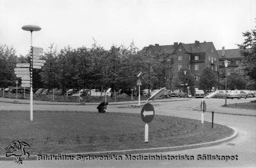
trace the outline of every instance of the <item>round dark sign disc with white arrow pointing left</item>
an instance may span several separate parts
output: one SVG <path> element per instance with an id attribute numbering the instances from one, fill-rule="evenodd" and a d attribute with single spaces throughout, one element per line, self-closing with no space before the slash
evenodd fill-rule
<path id="1" fill-rule="evenodd" d="M 152 122 L 153 118 L 155 116 L 155 110 L 152 104 L 146 103 L 141 109 L 141 119 L 145 123 Z"/>

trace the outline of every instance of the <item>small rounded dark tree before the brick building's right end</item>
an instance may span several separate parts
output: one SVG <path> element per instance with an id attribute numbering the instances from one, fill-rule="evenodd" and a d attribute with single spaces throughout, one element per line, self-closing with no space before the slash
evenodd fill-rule
<path id="1" fill-rule="evenodd" d="M 215 71 L 211 70 L 209 67 L 205 67 L 202 71 L 199 80 L 199 88 L 202 90 L 207 90 L 210 92 L 212 87 L 215 87 L 217 84 Z"/>

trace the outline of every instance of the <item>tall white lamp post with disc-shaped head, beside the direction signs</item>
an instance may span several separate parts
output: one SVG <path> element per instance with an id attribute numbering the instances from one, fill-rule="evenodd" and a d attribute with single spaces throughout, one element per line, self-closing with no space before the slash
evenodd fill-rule
<path id="1" fill-rule="evenodd" d="M 24 25 L 21 27 L 24 31 L 31 32 L 31 47 L 32 45 L 32 32 L 33 31 L 40 31 L 41 27 L 38 25 Z M 30 60 L 30 120 L 33 121 L 33 86 L 32 86 L 32 76 L 33 75 L 33 53 L 31 53 L 31 60 Z"/>

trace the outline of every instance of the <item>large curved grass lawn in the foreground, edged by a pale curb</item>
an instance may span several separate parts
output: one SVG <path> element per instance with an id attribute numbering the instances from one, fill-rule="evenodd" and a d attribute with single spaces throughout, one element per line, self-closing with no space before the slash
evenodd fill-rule
<path id="1" fill-rule="evenodd" d="M 156 115 L 144 143 L 140 113 L 95 113 L 78 111 L 0 111 L 0 155 L 12 141 L 30 145 L 30 155 L 131 150 L 204 143 L 228 137 L 226 126 L 198 120 Z"/>

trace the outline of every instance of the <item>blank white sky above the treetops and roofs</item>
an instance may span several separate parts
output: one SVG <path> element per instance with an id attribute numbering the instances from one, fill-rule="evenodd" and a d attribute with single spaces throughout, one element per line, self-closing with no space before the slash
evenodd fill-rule
<path id="1" fill-rule="evenodd" d="M 93 38 L 110 46 L 172 45 L 212 41 L 217 50 L 237 48 L 242 32 L 255 29 L 255 0 L 0 0 L 0 44 L 25 55 L 30 32 L 38 25 L 33 46 L 48 50 L 90 48 Z"/>

